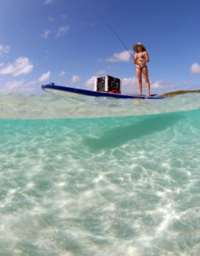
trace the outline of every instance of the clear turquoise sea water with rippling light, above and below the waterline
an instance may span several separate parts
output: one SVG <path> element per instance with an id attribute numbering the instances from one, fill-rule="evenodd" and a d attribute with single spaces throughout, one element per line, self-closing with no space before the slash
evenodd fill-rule
<path id="1" fill-rule="evenodd" d="M 200 95 L 1 94 L 0 255 L 200 255 Z"/>

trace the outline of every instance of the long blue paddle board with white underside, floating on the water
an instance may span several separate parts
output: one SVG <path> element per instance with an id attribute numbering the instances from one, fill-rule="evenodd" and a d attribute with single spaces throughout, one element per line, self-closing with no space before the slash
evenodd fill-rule
<path id="1" fill-rule="evenodd" d="M 54 94 L 61 95 L 83 95 L 83 96 L 94 96 L 94 97 L 107 97 L 107 98 L 117 98 L 117 99 L 163 99 L 163 96 L 151 95 L 151 96 L 140 96 L 140 95 L 131 95 L 131 94 L 117 94 L 103 91 L 95 90 L 85 90 L 61 85 L 52 84 L 43 84 L 42 89 Z"/>

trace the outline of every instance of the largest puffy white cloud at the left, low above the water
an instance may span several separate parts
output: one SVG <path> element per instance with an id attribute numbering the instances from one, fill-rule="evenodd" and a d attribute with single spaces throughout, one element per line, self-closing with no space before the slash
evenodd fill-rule
<path id="1" fill-rule="evenodd" d="M 7 67 L 3 67 L 4 64 L 0 64 L 0 74 L 11 74 L 14 77 L 20 75 L 26 75 L 30 73 L 33 69 L 31 61 L 26 57 L 20 57 L 14 61 L 14 63 L 9 63 Z"/>

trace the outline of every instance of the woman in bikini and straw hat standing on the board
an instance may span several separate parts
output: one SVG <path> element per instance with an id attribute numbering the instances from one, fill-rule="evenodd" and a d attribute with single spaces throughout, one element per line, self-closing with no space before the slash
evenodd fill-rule
<path id="1" fill-rule="evenodd" d="M 149 55 L 146 52 L 146 48 L 141 43 L 134 45 L 134 64 L 136 64 L 136 75 L 138 79 L 139 94 L 142 95 L 142 74 L 146 81 L 147 96 L 150 96 L 150 82 L 148 77 L 148 68 L 146 62 L 149 62 Z"/>

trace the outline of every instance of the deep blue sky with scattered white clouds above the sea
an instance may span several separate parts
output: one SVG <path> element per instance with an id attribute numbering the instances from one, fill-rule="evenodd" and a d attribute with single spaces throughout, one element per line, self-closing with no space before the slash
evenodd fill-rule
<path id="1" fill-rule="evenodd" d="M 199 0 L 1 0 L 0 91 L 93 89 L 109 74 L 137 92 L 129 52 L 100 16 L 133 55 L 146 46 L 151 92 L 200 89 L 199 10 Z"/>

